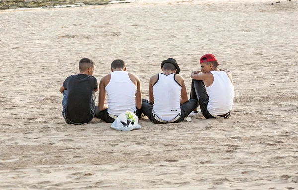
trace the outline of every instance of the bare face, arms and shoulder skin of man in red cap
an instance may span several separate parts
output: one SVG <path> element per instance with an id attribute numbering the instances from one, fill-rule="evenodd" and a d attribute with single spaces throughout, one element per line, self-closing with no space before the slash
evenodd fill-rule
<path id="1" fill-rule="evenodd" d="M 218 69 L 218 67 L 214 67 L 213 64 L 206 63 L 201 63 L 201 71 L 193 71 L 190 74 L 192 79 L 203 80 L 205 86 L 208 87 L 213 83 L 213 75 L 210 73 L 210 71 L 224 71 L 233 84 L 232 73 L 230 71 Z"/>

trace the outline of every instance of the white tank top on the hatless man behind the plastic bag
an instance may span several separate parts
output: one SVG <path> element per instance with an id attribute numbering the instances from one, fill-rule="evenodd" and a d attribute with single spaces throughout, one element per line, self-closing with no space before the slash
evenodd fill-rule
<path id="1" fill-rule="evenodd" d="M 111 80 L 105 87 L 108 96 L 108 113 L 119 116 L 125 111 L 136 111 L 137 86 L 130 80 L 128 72 L 111 72 Z"/>

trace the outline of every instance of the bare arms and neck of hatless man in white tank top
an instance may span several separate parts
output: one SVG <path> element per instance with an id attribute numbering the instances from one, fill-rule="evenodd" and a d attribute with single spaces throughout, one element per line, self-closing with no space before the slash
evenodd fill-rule
<path id="1" fill-rule="evenodd" d="M 126 67 L 124 68 L 111 68 L 111 71 L 126 71 Z M 136 102 L 136 107 L 137 109 L 141 109 L 142 106 L 142 98 L 141 98 L 141 83 L 140 83 L 140 79 L 131 73 L 128 73 L 128 76 L 130 78 L 130 80 L 132 81 L 132 83 L 134 83 L 137 86 L 137 92 L 135 94 L 136 98 L 135 98 L 135 102 Z M 105 110 L 108 108 L 107 104 L 104 104 L 105 101 L 105 97 L 106 97 L 106 91 L 105 91 L 105 87 L 108 85 L 108 83 L 111 80 L 111 74 L 108 74 L 104 77 L 101 78 L 100 82 L 99 82 L 99 98 L 98 98 L 98 109 L 100 111 Z"/>

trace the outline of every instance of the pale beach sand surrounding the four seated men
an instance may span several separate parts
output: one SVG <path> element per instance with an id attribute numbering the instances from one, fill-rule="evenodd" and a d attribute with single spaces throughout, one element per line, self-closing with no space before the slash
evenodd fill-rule
<path id="1" fill-rule="evenodd" d="M 0 11 L 0 189 L 298 190 L 298 2 L 140 1 Z M 229 119 L 119 132 L 67 125 L 64 79 L 83 57 L 141 80 L 173 57 L 190 72 L 213 53 L 233 72 Z M 98 93 L 97 93 L 98 95 Z"/>

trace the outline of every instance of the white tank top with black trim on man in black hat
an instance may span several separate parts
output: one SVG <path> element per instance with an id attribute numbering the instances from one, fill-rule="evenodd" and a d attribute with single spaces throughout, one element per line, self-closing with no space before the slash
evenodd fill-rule
<path id="1" fill-rule="evenodd" d="M 162 120 L 174 119 L 180 110 L 181 85 L 175 80 L 175 73 L 158 74 L 153 84 L 154 105 L 153 112 Z"/>

